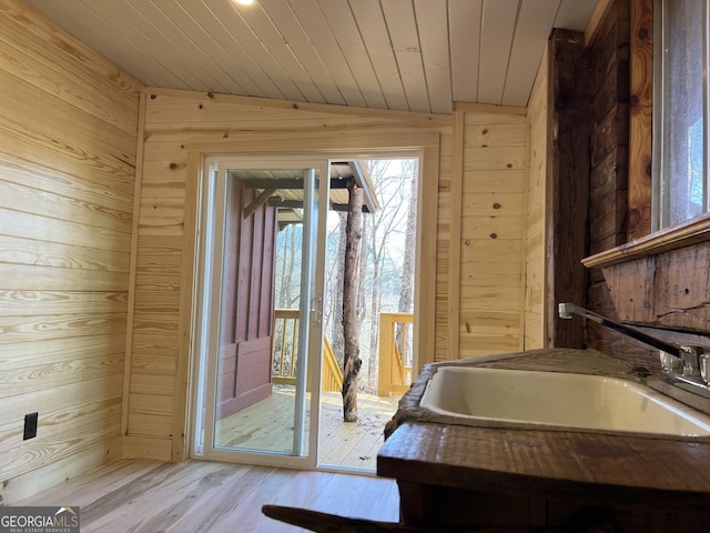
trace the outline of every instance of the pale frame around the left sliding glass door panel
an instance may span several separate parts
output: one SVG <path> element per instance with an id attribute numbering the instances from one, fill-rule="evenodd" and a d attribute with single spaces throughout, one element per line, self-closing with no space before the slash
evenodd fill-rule
<path id="1" fill-rule="evenodd" d="M 222 247 L 214 243 L 222 242 L 222 229 L 219 221 L 223 221 L 224 202 L 219 201 L 224 198 L 226 187 L 226 174 L 230 169 L 317 169 L 322 177 L 317 185 L 317 190 L 308 192 L 304 199 L 304 204 L 312 205 L 311 210 L 304 210 L 304 255 L 313 258 L 311 270 L 302 273 L 302 286 L 305 285 L 311 294 L 304 294 L 305 302 L 301 304 L 301 334 L 298 342 L 307 345 L 307 365 L 298 366 L 296 409 L 294 413 L 294 450 L 293 454 L 276 453 L 271 451 L 242 451 L 225 447 L 216 447 L 213 442 L 214 421 L 215 421 L 215 400 L 216 400 L 216 353 L 217 348 L 212 339 L 217 339 L 220 328 L 220 299 L 219 282 L 222 279 Z M 196 383 L 195 394 L 193 396 L 193 421 L 191 432 L 191 456 L 197 459 L 230 461 L 248 464 L 268 464 L 273 466 L 314 469 L 317 461 L 317 439 L 318 424 L 310 423 L 307 447 L 304 442 L 304 432 L 306 425 L 306 375 L 310 374 L 314 383 L 321 382 L 321 353 L 323 350 L 323 330 L 322 330 L 322 304 L 323 292 L 325 288 L 325 237 L 326 221 L 320 217 L 323 205 L 327 213 L 328 195 L 329 195 L 329 164 L 328 160 L 317 160 L 313 157 L 278 157 L 278 155 L 260 155 L 260 157 L 210 157 L 205 159 L 204 177 L 200 184 L 200 227 L 197 231 L 197 262 L 196 262 L 196 283 L 193 298 L 195 306 L 194 328 L 193 328 L 193 361 L 194 381 Z M 315 174 L 313 174 L 315 182 Z M 310 203 L 307 203 L 310 202 Z M 307 234 L 311 235 L 306 239 Z M 315 241 L 315 242 L 314 242 Z M 315 247 L 315 255 L 313 255 L 312 247 Z M 216 253 L 215 253 L 216 252 Z M 213 259 L 216 258 L 216 259 Z M 308 261 L 311 262 L 311 261 Z M 205 286 L 216 288 L 214 293 L 203 291 Z M 317 420 L 320 415 L 320 386 L 312 388 L 311 394 L 311 420 Z M 204 428 L 203 444 L 199 444 L 202 429 Z M 306 453 L 304 451 L 307 450 Z"/>

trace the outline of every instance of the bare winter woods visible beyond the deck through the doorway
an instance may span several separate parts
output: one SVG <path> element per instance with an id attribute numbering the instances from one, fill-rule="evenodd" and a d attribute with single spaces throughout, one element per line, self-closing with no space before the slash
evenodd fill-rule
<path id="1" fill-rule="evenodd" d="M 375 194 L 382 209 L 362 214 L 355 315 L 358 324 L 358 359 L 361 368 L 357 390 L 375 392 L 378 373 L 379 313 L 384 310 L 412 311 L 416 235 L 417 160 L 366 161 Z M 345 371 L 343 338 L 344 258 L 346 255 L 347 213 L 341 212 L 337 223 L 329 225 L 326 249 L 327 300 L 324 306 L 324 333 L 341 369 Z M 297 305 L 301 231 L 284 229 L 280 235 L 283 265 L 277 289 L 280 306 Z M 282 248 L 283 247 L 283 248 Z M 284 272 L 284 270 L 286 272 Z M 291 281 L 288 281 L 291 280 Z M 283 288 L 283 292 L 282 292 Z M 282 303 L 283 302 L 283 303 Z M 407 339 L 410 333 L 407 333 Z M 402 332 L 397 330 L 399 346 Z M 410 349 L 406 353 L 412 353 Z"/>

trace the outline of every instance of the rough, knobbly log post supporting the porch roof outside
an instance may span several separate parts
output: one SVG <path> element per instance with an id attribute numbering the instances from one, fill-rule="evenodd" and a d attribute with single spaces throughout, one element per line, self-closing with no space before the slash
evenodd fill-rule
<path id="1" fill-rule="evenodd" d="M 363 190 L 348 180 L 347 242 L 343 276 L 343 420 L 357 421 L 357 374 L 363 364 L 359 359 L 359 320 L 357 318 L 357 278 L 359 241 L 363 223 Z"/>

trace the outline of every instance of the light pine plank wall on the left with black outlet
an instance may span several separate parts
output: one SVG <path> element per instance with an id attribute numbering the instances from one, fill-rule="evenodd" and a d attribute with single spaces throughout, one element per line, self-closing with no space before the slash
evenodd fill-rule
<path id="1" fill-rule="evenodd" d="M 0 501 L 121 453 L 142 86 L 0 0 Z M 38 436 L 22 440 L 39 412 Z"/>

